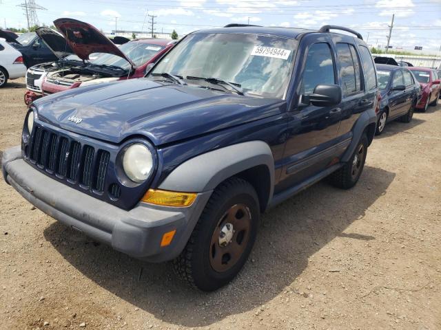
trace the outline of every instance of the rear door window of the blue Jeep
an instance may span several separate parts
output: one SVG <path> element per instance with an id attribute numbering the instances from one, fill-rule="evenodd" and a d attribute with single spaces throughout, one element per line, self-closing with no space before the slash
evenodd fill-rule
<path id="1" fill-rule="evenodd" d="M 349 44 L 347 43 L 338 43 L 337 54 L 338 62 L 340 63 L 340 77 L 342 80 L 343 95 L 348 96 L 357 93 L 361 90 L 360 65 L 355 51 L 351 52 Z"/>

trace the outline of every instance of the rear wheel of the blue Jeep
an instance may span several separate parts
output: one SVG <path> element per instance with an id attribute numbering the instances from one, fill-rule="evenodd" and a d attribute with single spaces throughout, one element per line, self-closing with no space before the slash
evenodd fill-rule
<path id="1" fill-rule="evenodd" d="M 349 189 L 356 185 L 365 166 L 367 144 L 367 136 L 363 134 L 349 161 L 329 175 L 328 181 L 330 184 L 342 189 Z"/>

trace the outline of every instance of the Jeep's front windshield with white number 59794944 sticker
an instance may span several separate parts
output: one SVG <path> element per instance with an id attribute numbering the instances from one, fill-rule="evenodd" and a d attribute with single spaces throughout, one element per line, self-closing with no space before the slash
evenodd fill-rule
<path id="1" fill-rule="evenodd" d="M 245 94 L 283 98 L 297 45 L 295 39 L 280 36 L 193 34 L 178 43 L 149 76 L 163 79 L 157 75 L 174 74 L 204 87 L 202 79 L 216 78 L 241 87 Z"/>

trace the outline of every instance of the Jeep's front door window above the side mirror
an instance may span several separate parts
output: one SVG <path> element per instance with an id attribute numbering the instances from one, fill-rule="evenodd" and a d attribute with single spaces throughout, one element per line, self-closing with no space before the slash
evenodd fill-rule
<path id="1" fill-rule="evenodd" d="M 317 85 L 336 83 L 334 60 L 327 43 L 316 43 L 309 47 L 305 72 L 303 72 L 300 94 L 312 94 Z"/>

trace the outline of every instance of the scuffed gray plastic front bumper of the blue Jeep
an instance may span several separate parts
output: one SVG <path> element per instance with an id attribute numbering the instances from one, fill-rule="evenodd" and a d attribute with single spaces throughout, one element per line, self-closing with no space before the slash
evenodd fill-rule
<path id="1" fill-rule="evenodd" d="M 151 262 L 174 259 L 181 253 L 211 191 L 198 194 L 187 208 L 139 203 L 127 211 L 39 172 L 21 157 L 19 146 L 3 153 L 3 177 L 34 206 L 75 230 L 112 248 Z M 165 232 L 176 230 L 172 243 L 161 248 Z"/>

